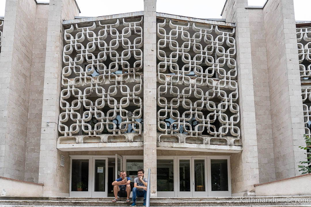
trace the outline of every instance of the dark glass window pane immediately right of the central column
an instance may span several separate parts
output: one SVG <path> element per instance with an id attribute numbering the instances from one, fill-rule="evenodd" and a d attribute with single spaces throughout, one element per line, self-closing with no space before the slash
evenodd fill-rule
<path id="1" fill-rule="evenodd" d="M 174 160 L 157 160 L 157 191 L 174 191 Z"/>

